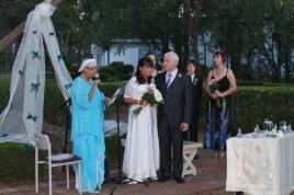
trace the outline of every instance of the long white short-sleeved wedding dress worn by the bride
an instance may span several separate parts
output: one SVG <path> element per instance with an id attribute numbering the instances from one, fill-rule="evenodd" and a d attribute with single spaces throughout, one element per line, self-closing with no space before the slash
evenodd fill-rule
<path id="1" fill-rule="evenodd" d="M 151 84 L 138 84 L 133 77 L 126 84 L 125 97 L 139 100 Z M 157 108 L 145 106 L 134 116 L 133 111 L 139 105 L 129 106 L 127 135 L 124 152 L 123 171 L 127 177 L 142 182 L 144 179 L 157 180 L 159 169 L 159 141 L 157 133 Z"/>

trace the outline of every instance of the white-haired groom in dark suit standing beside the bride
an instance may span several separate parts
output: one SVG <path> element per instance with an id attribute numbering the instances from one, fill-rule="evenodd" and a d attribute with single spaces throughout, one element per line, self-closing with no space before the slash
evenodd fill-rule
<path id="1" fill-rule="evenodd" d="M 158 105 L 158 136 L 160 148 L 159 182 L 171 176 L 171 145 L 173 151 L 173 179 L 184 183 L 183 133 L 189 130 L 192 114 L 192 84 L 189 77 L 178 70 L 179 57 L 176 53 L 165 54 L 162 68 L 166 72 L 156 77 L 156 88 L 163 96 Z"/>

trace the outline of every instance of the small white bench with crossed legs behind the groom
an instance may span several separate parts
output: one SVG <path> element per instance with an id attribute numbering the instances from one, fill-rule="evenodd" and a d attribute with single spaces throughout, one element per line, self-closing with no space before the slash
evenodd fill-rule
<path id="1" fill-rule="evenodd" d="M 199 148 L 203 148 L 203 145 L 194 141 L 183 141 L 183 172 L 182 177 L 192 174 L 196 175 L 197 170 L 193 164 L 193 159 L 197 154 Z"/>

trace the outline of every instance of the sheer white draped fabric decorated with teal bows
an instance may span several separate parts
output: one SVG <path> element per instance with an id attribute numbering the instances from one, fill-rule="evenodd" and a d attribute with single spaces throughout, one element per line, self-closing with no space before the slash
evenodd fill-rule
<path id="1" fill-rule="evenodd" d="M 42 131 L 45 88 L 43 39 L 57 83 L 65 100 L 69 99 L 68 90 L 72 80 L 63 60 L 50 19 L 55 9 L 50 3 L 43 2 L 27 15 L 12 68 L 9 103 L 0 115 L 0 142 L 15 140 L 34 144 L 34 133 Z"/>

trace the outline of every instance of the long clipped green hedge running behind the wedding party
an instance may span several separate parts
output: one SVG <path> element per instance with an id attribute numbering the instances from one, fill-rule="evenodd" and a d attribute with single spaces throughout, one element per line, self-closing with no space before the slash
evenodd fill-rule
<path id="1" fill-rule="evenodd" d="M 252 83 L 252 82 L 251 82 Z M 111 96 L 120 82 L 106 82 L 101 84 L 101 91 L 106 96 Z M 0 110 L 2 111 L 9 97 L 9 82 L 0 82 Z M 268 83 L 262 87 L 239 87 L 233 97 L 233 131 L 237 126 L 246 130 L 251 130 L 264 118 L 270 118 L 274 123 L 282 119 L 294 122 L 294 85 L 282 83 Z M 207 108 L 207 95 L 204 95 L 201 112 L 201 128 L 205 129 L 205 114 Z M 44 119 L 55 125 L 65 125 L 65 113 L 60 110 L 64 103 L 61 93 L 54 79 L 46 82 L 46 94 L 44 105 Z M 110 110 L 109 112 L 112 112 Z"/>

